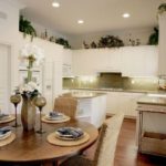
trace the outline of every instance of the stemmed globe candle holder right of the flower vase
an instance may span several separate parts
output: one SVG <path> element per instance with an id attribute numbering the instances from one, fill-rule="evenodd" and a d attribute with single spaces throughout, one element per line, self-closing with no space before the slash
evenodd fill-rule
<path id="1" fill-rule="evenodd" d="M 45 106 L 45 104 L 46 104 L 45 97 L 38 96 L 34 98 L 34 105 L 37 107 L 39 107 L 39 111 L 40 111 L 40 129 L 37 131 L 37 133 L 39 133 L 39 134 L 45 133 L 45 131 L 43 131 L 43 128 L 42 128 L 42 117 L 41 117 L 41 112 L 42 112 L 43 106 Z"/>

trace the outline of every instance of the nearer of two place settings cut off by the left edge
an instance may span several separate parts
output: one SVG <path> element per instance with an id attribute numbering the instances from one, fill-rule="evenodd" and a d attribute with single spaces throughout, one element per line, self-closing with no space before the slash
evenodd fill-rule
<path id="1" fill-rule="evenodd" d="M 15 134 L 12 132 L 11 126 L 0 127 L 0 147 L 10 144 L 15 139 Z"/>

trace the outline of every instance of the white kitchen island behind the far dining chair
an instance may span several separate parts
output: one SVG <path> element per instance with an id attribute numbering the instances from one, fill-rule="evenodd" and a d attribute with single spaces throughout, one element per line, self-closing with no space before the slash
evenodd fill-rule
<path id="1" fill-rule="evenodd" d="M 106 116 L 106 93 L 77 91 L 63 95 L 77 100 L 77 117 L 87 117 L 93 125 L 101 127 Z"/>

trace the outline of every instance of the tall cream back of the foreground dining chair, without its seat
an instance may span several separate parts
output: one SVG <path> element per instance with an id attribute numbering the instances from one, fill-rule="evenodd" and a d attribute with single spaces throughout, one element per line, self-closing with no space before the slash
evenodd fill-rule
<path id="1" fill-rule="evenodd" d="M 95 166 L 113 166 L 118 134 L 124 114 L 116 114 L 106 120 L 102 126 L 94 156 Z"/>

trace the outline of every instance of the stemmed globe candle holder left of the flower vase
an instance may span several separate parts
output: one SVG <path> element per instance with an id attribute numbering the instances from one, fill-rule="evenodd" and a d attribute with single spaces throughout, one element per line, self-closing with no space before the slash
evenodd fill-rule
<path id="1" fill-rule="evenodd" d="M 11 95 L 10 96 L 10 102 L 13 103 L 14 108 L 15 108 L 15 124 L 12 127 L 19 127 L 21 125 L 18 124 L 17 107 L 18 107 L 18 104 L 21 102 L 21 96 L 19 94 Z"/>

